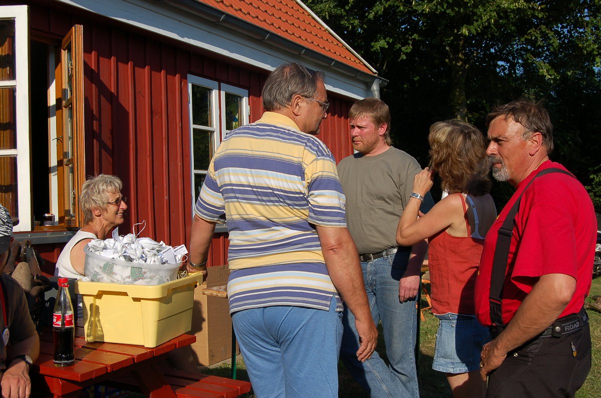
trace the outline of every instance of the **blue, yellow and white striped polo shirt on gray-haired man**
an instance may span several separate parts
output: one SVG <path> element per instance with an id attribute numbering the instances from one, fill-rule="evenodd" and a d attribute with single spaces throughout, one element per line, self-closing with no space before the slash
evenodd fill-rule
<path id="1" fill-rule="evenodd" d="M 230 313 L 268 306 L 342 306 L 314 225 L 346 227 L 336 162 L 287 116 L 265 112 L 219 145 L 196 214 L 227 219 Z"/>

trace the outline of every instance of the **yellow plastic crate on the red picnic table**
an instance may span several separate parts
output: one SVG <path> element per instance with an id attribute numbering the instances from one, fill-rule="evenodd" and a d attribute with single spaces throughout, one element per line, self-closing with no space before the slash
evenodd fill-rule
<path id="1" fill-rule="evenodd" d="M 85 341 L 151 348 L 186 333 L 194 288 L 202 282 L 202 273 L 154 286 L 78 280 L 75 291 L 84 303 Z"/>

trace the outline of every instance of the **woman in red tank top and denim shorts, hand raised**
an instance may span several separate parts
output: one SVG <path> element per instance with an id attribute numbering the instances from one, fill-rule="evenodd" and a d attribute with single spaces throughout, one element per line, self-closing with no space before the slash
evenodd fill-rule
<path id="1" fill-rule="evenodd" d="M 459 120 L 433 124 L 428 140 L 430 167 L 413 180 L 397 243 L 429 240 L 432 309 L 440 320 L 432 368 L 446 373 L 454 397 L 484 397 L 480 352 L 490 337 L 474 316 L 474 286 L 484 236 L 496 219 L 486 144 L 480 130 Z M 449 194 L 419 214 L 434 173 Z"/>

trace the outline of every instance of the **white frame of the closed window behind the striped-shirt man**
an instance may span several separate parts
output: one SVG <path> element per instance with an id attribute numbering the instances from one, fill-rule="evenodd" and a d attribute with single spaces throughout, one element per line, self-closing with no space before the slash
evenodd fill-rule
<path id="1" fill-rule="evenodd" d="M 212 90 L 211 92 L 211 104 L 212 104 L 212 124 L 214 127 L 208 127 L 203 125 L 197 125 L 192 123 L 192 85 L 203 86 Z M 225 134 L 229 131 L 225 131 L 225 93 L 239 95 L 242 97 L 242 120 L 240 125 L 249 123 L 250 107 L 248 104 L 248 90 L 242 89 L 235 86 L 230 86 L 224 83 L 216 82 L 215 80 L 204 79 L 203 77 L 194 76 L 188 74 L 188 119 L 190 125 L 190 175 L 191 175 L 191 192 L 192 192 L 192 215 L 194 215 L 194 207 L 196 205 L 197 197 L 194 192 L 194 128 L 201 128 L 203 130 L 211 130 L 213 134 L 213 145 L 214 148 L 218 148 L 219 143 Z"/>

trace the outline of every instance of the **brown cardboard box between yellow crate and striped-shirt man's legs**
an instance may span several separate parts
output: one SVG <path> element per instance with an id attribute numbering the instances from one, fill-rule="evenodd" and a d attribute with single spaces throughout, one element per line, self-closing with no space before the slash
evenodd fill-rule
<path id="1" fill-rule="evenodd" d="M 207 296 L 204 288 L 227 285 L 227 265 L 207 268 L 206 283 L 194 291 L 192 355 L 199 365 L 210 366 L 231 358 L 231 316 L 227 298 Z"/>

